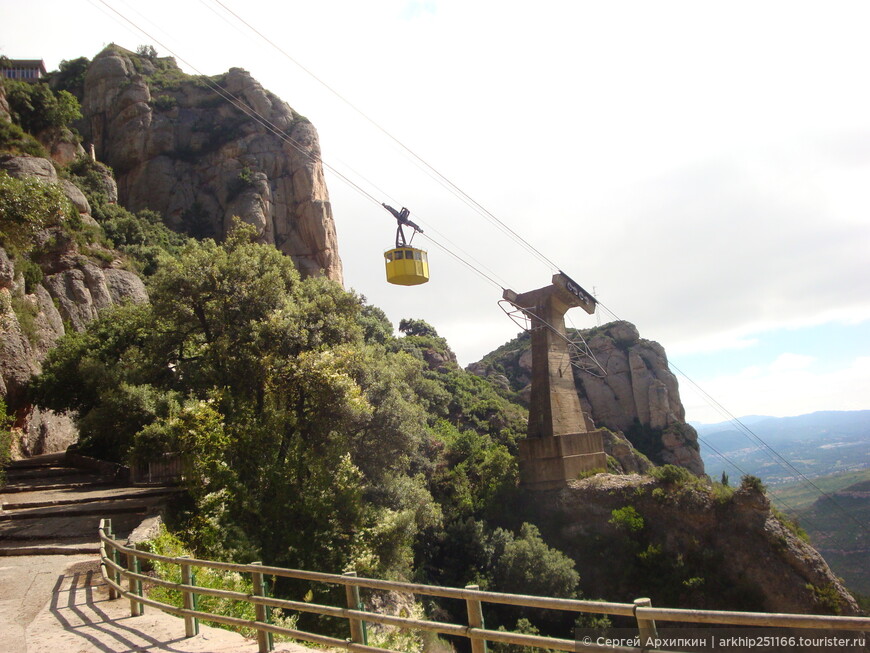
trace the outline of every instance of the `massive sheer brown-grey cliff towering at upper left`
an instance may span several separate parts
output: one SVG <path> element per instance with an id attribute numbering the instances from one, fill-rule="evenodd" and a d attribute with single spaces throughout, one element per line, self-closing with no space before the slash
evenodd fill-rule
<path id="1" fill-rule="evenodd" d="M 303 274 L 342 282 L 317 132 L 244 70 L 206 81 L 110 46 L 88 70 L 82 113 L 127 208 L 199 237 L 223 237 L 238 216 Z"/>

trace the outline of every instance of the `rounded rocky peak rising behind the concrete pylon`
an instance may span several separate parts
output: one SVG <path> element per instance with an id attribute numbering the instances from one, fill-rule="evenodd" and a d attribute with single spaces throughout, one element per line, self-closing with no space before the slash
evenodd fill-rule
<path id="1" fill-rule="evenodd" d="M 577 392 L 587 420 L 613 431 L 607 453 L 623 471 L 648 465 L 634 449 L 657 464 L 674 464 L 704 474 L 695 429 L 686 423 L 677 379 L 657 342 L 640 337 L 629 322 L 580 332 L 592 356 L 575 368 Z M 579 342 L 579 339 L 578 339 Z M 472 363 L 471 372 L 509 387 L 528 401 L 532 356 L 528 334 Z"/>

